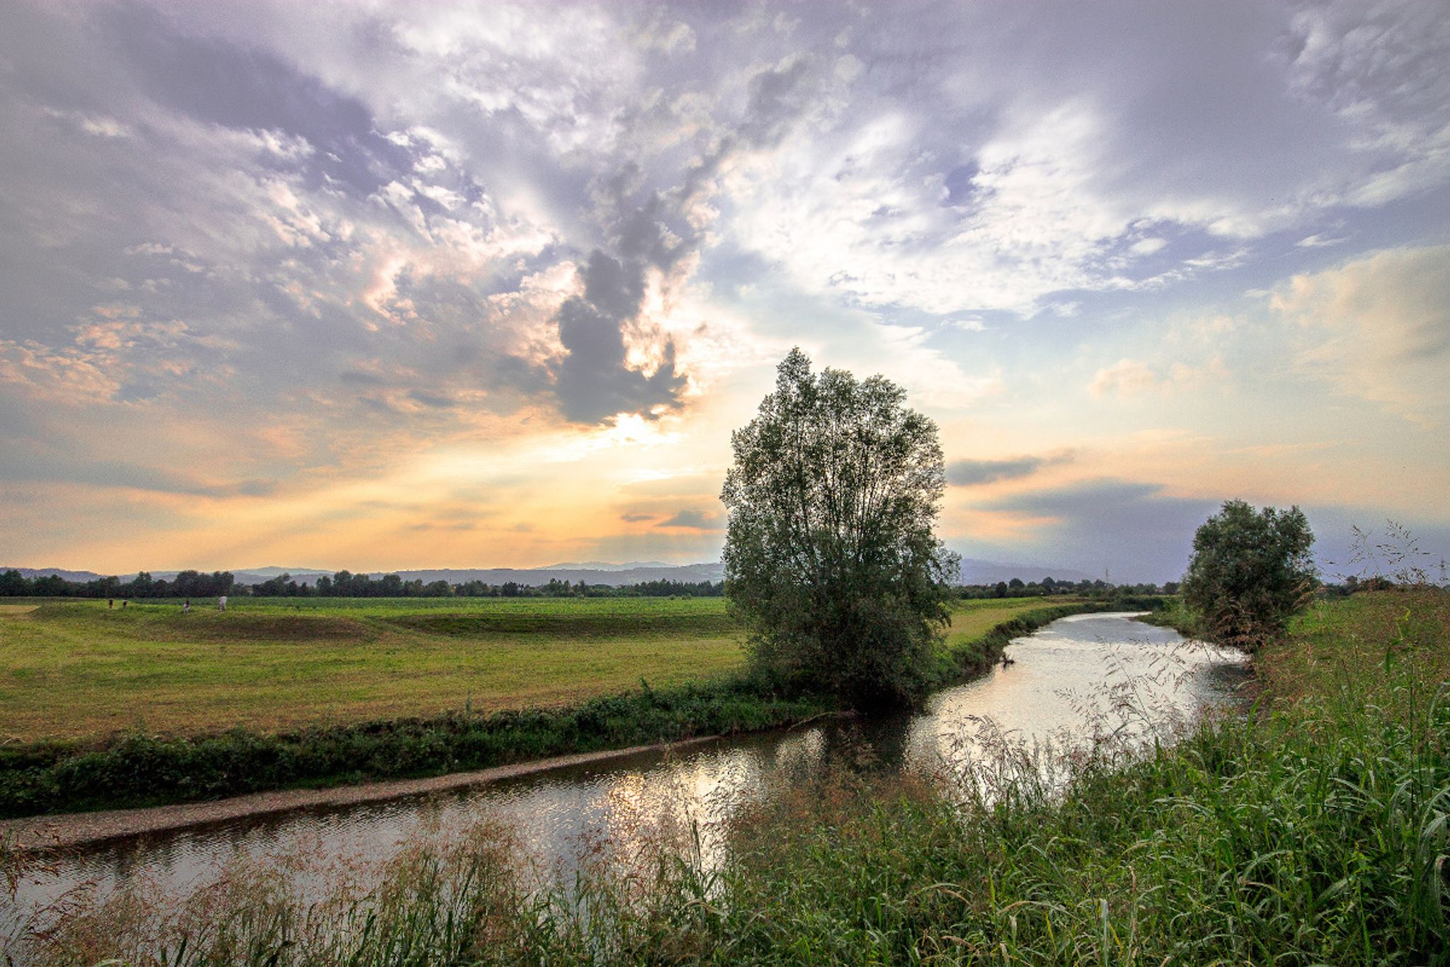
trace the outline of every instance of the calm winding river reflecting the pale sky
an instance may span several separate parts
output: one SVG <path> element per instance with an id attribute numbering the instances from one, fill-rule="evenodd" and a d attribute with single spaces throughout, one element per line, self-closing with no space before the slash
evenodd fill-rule
<path id="1" fill-rule="evenodd" d="M 818 723 L 641 754 L 473 789 L 341 809 L 309 809 L 99 845 L 57 857 L 6 897 L 0 954 L 78 899 L 142 884 L 184 896 L 239 861 L 289 877 L 303 893 L 339 870 L 367 871 L 405 844 L 457 837 L 481 819 L 518 831 L 539 868 L 568 867 L 592 842 L 628 850 L 661 825 L 695 823 L 713 863 L 722 821 L 782 783 L 831 763 L 963 776 L 1012 748 L 1137 741 L 1235 700 L 1240 655 L 1185 642 L 1128 613 L 1076 615 L 1018 638 L 1009 665 L 932 696 L 915 715 Z"/>

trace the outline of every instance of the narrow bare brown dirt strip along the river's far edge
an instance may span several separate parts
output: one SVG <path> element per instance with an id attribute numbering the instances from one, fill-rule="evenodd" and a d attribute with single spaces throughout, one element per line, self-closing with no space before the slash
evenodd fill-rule
<path id="1" fill-rule="evenodd" d="M 204 826 L 249 816 L 265 816 L 307 809 L 315 806 L 352 806 L 358 803 L 384 802 L 403 796 L 418 796 L 465 786 L 483 786 L 502 779 L 515 779 L 532 773 L 545 773 L 566 765 L 602 763 L 638 752 L 658 752 L 670 748 L 686 748 L 712 742 L 718 735 L 684 739 L 680 742 L 657 742 L 654 745 L 632 745 L 629 748 L 605 750 L 600 752 L 579 752 L 558 755 L 532 763 L 496 765 L 471 773 L 450 773 L 429 779 L 402 779 L 386 783 L 362 783 L 360 786 L 336 786 L 334 789 L 281 789 L 265 793 L 248 793 L 231 799 L 204 803 L 177 803 L 149 809 L 109 809 L 106 812 L 78 812 L 59 816 L 30 816 L 28 819 L 0 821 L 0 841 L 10 839 L 17 850 L 61 850 L 104 839 L 126 839 L 157 832 L 170 832 L 190 826 Z"/>

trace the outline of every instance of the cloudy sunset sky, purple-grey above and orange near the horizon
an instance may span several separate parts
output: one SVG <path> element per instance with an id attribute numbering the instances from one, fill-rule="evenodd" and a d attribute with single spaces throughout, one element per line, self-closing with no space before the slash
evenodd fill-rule
<path id="1" fill-rule="evenodd" d="M 0 564 L 716 560 L 795 345 L 937 420 L 969 557 L 1450 555 L 1443 0 L 4 20 Z"/>

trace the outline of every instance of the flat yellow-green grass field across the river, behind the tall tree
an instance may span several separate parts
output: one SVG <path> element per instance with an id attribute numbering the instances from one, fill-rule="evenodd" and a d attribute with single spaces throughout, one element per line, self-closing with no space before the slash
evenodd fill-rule
<path id="1" fill-rule="evenodd" d="M 948 644 L 1043 606 L 963 602 Z M 232 599 L 226 613 L 10 602 L 0 606 L 0 741 L 561 706 L 742 661 L 744 634 L 719 597 Z"/>

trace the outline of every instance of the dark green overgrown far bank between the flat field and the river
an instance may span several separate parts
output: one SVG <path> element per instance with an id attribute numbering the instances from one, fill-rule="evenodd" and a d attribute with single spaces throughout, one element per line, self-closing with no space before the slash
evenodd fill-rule
<path id="1" fill-rule="evenodd" d="M 969 606 L 945 642 L 940 681 L 980 671 L 1012 636 L 1098 602 Z M 455 616 L 445 615 L 457 623 Z M 557 755 L 789 726 L 838 710 L 829 696 L 782 696 L 737 674 L 641 687 L 564 707 L 329 725 L 280 734 L 128 735 L 103 745 L 0 748 L 0 818 L 216 800 L 265 790 L 423 779 Z"/>

